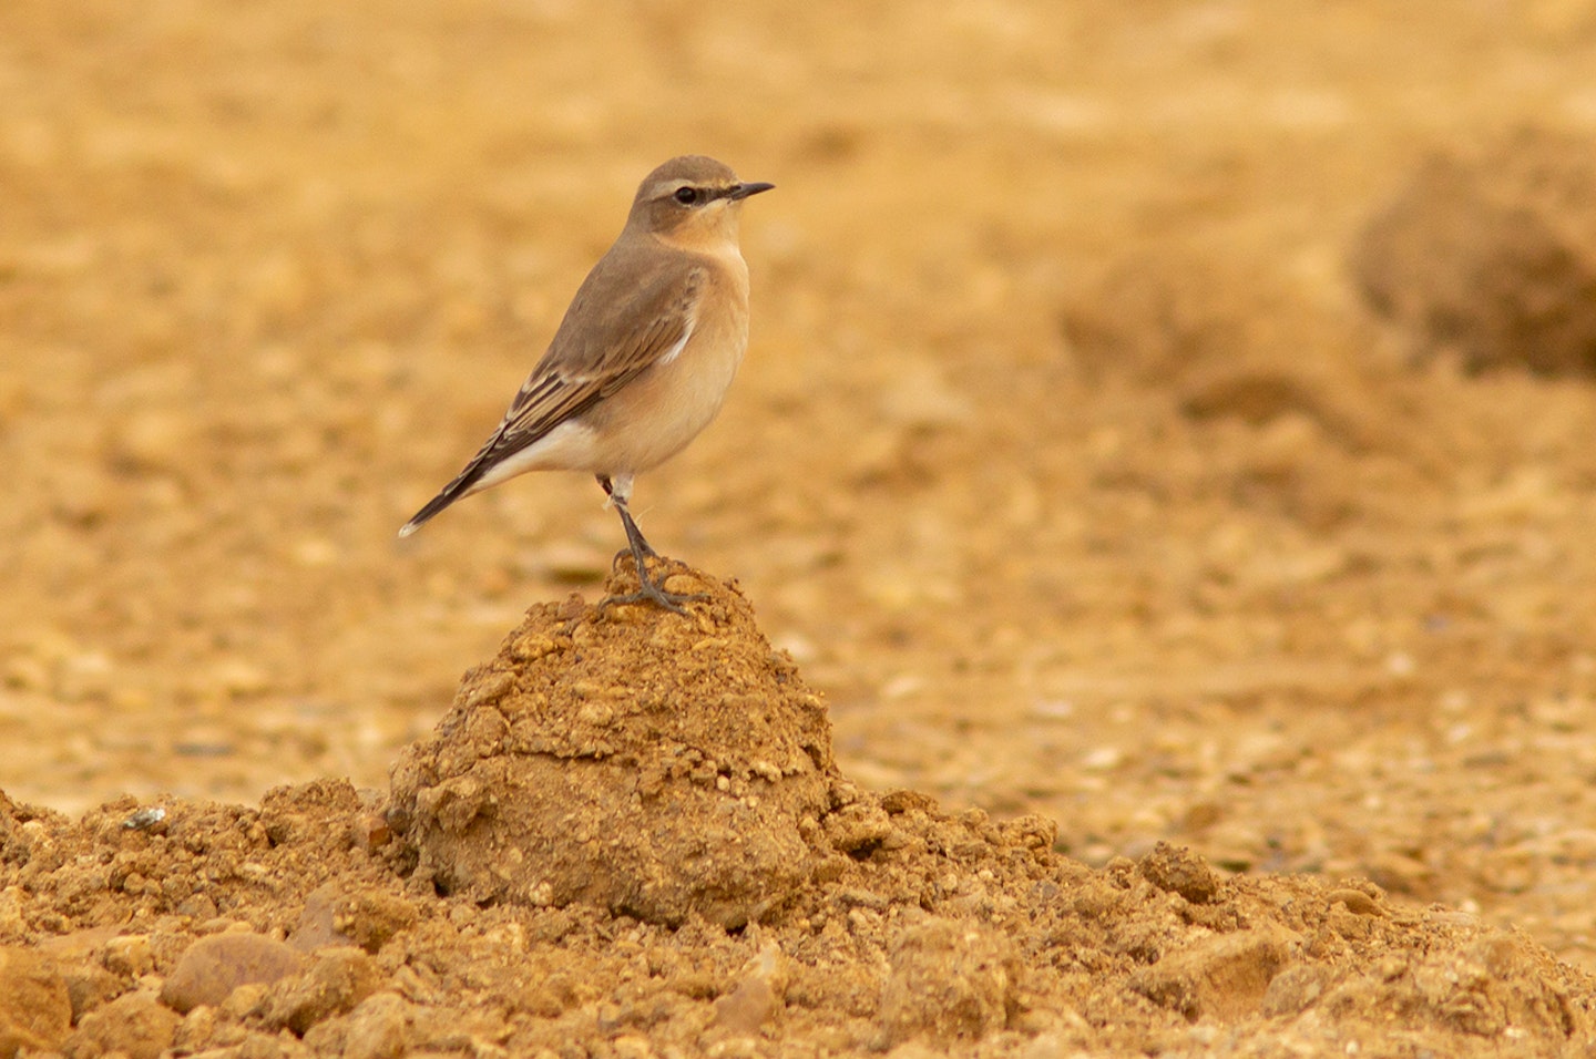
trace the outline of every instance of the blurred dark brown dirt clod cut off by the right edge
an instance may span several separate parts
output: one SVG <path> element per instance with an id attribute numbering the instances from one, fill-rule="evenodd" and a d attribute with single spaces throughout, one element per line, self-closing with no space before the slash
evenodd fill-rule
<path id="1" fill-rule="evenodd" d="M 1428 158 L 1353 252 L 1369 305 L 1473 370 L 1596 375 L 1596 153 L 1519 131 Z"/>

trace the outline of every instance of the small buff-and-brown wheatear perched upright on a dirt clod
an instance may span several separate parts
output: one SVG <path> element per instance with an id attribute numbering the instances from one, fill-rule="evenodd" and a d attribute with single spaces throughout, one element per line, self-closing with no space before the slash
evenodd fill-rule
<path id="1" fill-rule="evenodd" d="M 626 228 L 576 290 L 504 421 L 399 536 L 519 474 L 586 470 L 621 512 L 642 585 L 605 603 L 648 600 L 685 612 L 694 596 L 666 592 L 648 573 L 645 560 L 659 553 L 627 507 L 632 478 L 681 451 L 720 411 L 749 348 L 737 218 L 742 199 L 771 187 L 744 183 L 702 155 L 648 174 Z"/>

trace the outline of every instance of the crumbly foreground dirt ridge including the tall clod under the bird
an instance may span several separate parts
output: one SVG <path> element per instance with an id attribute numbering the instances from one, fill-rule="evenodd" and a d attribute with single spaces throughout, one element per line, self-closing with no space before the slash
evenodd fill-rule
<path id="1" fill-rule="evenodd" d="M 386 804 L 0 801 L 3 1054 L 1591 1045 L 1593 982 L 1470 915 L 855 789 L 741 593 L 680 587 L 691 619 L 533 608 Z"/>

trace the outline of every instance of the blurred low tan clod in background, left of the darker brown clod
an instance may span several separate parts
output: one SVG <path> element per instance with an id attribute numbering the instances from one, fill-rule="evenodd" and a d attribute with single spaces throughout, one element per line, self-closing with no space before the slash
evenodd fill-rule
<path id="1" fill-rule="evenodd" d="M 1282 268 L 1278 247 L 1246 257 L 1203 239 L 1133 242 L 1073 281 L 1060 327 L 1085 380 L 1173 400 L 1205 439 L 1176 488 L 1218 490 L 1323 531 L 1368 502 L 1352 486 L 1361 455 L 1411 448 L 1385 378 L 1398 343 Z M 1246 440 L 1221 455 L 1221 435 Z M 1132 478 L 1163 474 L 1125 456 L 1111 463 Z"/>

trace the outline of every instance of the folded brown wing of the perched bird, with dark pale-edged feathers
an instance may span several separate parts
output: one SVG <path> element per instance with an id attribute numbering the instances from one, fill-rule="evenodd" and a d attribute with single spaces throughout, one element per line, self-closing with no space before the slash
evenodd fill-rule
<path id="1" fill-rule="evenodd" d="M 704 282 L 705 268 L 693 258 L 653 247 L 611 249 L 576 290 L 549 351 L 522 383 L 503 423 L 399 534 L 409 536 L 501 461 L 680 351 L 693 332 Z"/>

